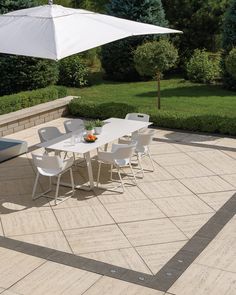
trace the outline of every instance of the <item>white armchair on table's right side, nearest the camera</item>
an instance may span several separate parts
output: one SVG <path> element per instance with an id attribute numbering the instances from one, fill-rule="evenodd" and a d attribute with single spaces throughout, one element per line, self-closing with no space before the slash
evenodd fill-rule
<path id="1" fill-rule="evenodd" d="M 123 189 L 123 192 L 125 190 L 124 183 L 121 177 L 120 170 L 124 167 L 130 167 L 132 177 L 134 179 L 134 182 L 136 184 L 136 177 L 133 171 L 133 168 L 131 166 L 131 157 L 134 153 L 136 147 L 136 143 L 131 144 L 113 144 L 112 150 L 110 152 L 107 151 L 98 151 L 98 177 L 97 177 L 97 186 L 100 181 L 100 174 L 101 174 L 101 164 L 109 164 L 111 165 L 111 180 L 112 180 L 112 169 L 113 166 L 116 168 L 117 173 L 119 175 L 119 179 L 121 182 L 121 186 Z"/>

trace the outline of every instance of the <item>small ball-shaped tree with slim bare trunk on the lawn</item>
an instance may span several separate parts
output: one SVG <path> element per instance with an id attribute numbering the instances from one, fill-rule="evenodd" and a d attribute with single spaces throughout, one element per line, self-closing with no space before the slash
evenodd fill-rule
<path id="1" fill-rule="evenodd" d="M 167 40 L 146 42 L 134 52 L 134 64 L 141 76 L 157 78 L 157 106 L 161 108 L 161 75 L 174 67 L 178 59 L 177 49 Z"/>

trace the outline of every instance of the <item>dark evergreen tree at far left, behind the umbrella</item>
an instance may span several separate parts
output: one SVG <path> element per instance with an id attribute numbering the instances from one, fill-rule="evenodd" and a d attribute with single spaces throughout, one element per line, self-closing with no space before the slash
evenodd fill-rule
<path id="1" fill-rule="evenodd" d="M 0 12 L 7 13 L 37 4 L 38 1 L 34 0 L 1 0 Z M 46 87 L 58 79 L 56 62 L 16 55 L 0 55 L 0 72 L 0 95 Z"/>

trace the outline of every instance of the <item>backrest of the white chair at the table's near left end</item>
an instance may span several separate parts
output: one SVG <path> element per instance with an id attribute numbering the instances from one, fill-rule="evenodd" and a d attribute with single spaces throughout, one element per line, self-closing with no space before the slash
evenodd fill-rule
<path id="1" fill-rule="evenodd" d="M 59 156 L 32 154 L 33 163 L 37 168 L 59 171 L 63 168 L 63 160 Z M 39 169 L 40 172 L 40 169 Z"/>

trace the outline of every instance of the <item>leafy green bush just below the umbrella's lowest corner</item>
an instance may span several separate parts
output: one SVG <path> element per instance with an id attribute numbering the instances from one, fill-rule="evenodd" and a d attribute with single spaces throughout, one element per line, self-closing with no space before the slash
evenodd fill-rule
<path id="1" fill-rule="evenodd" d="M 88 68 L 79 55 L 69 56 L 59 62 L 60 85 L 82 87 L 87 84 Z"/>

